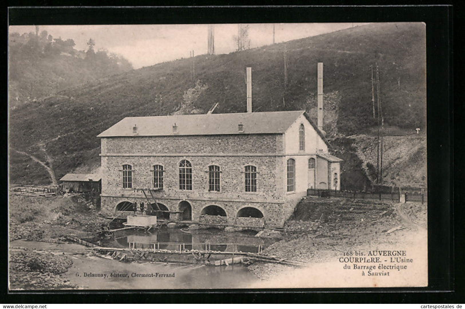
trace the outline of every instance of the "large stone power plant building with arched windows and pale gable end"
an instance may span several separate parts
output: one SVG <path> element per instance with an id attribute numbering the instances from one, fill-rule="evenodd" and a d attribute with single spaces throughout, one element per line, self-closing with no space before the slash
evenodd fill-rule
<path id="1" fill-rule="evenodd" d="M 340 189 L 341 160 L 303 110 L 126 117 L 98 137 L 108 214 L 145 188 L 165 219 L 281 227 L 307 188 Z"/>

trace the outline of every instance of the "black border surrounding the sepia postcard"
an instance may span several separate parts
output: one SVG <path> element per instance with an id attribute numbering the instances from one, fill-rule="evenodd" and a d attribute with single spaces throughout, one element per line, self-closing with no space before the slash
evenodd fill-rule
<path id="1" fill-rule="evenodd" d="M 46 294 L 6 294 L 7 303 L 306 303 L 340 302 L 344 296 L 357 303 L 412 303 L 421 300 L 443 303 L 451 293 L 418 293 L 454 289 L 452 234 L 452 7 L 451 6 L 159 6 L 159 7 L 24 7 L 15 1 L 7 9 L 10 25 L 53 24 L 197 24 L 266 22 L 394 22 L 426 23 L 428 100 L 428 288 L 390 289 L 284 289 L 284 290 L 179 290 L 149 291 L 70 291 Z M 42 5 L 60 6 L 60 1 Z M 118 2 L 118 1 L 116 1 Z M 31 5 L 31 3 L 27 3 Z M 86 5 L 80 1 L 79 5 Z M 121 6 L 128 5 L 120 1 Z M 133 4 L 132 4 L 133 5 Z M 22 7 L 21 7 L 22 6 Z M 4 71 L 6 72 L 6 70 Z M 5 83 L 6 84 L 6 83 Z M 5 91 L 6 93 L 6 91 Z M 7 101 L 6 101 L 7 102 Z M 6 113 L 4 113 L 6 115 Z M 6 118 L 6 116 L 4 116 Z M 5 119 L 6 120 L 6 119 Z M 6 122 L 4 122 L 6 123 Z M 7 132 L 7 131 L 5 131 Z M 5 158 L 7 155 L 5 155 Z M 440 158 L 440 160 L 438 160 Z M 6 162 L 6 160 L 5 160 Z M 435 162 L 436 164 L 431 164 Z M 440 162 L 440 164 L 438 164 Z M 7 187 L 7 186 L 5 186 Z M 435 190 L 432 190 L 435 188 Z M 7 216 L 4 217 L 5 219 Z M 7 226 L 6 222 L 4 222 Z M 3 229 L 2 232 L 7 232 Z M 1 238 L 7 257 L 6 234 Z M 6 263 L 5 263 L 6 265 Z M 1 275 L 6 283 L 6 272 Z M 3 285 L 7 289 L 7 283 Z M 379 291 L 382 291 L 379 292 Z M 3 291 L 2 291 L 3 292 Z M 4 291 L 6 293 L 6 290 Z M 103 294 L 102 294 L 103 292 Z M 180 292 L 182 294 L 176 294 Z M 193 297 L 188 293 L 202 293 Z M 305 292 L 305 293 L 302 293 Z M 318 294 L 316 293 L 318 292 Z M 328 293 L 330 292 L 330 293 Z M 344 293 L 341 292 L 353 292 Z M 365 293 L 371 292 L 368 296 Z M 80 295 L 82 293 L 89 295 Z M 147 294 L 148 293 L 148 294 Z M 239 294 L 242 293 L 242 294 Z M 275 294 L 279 293 L 279 294 Z M 336 295 L 334 293 L 337 293 Z M 310 296 L 310 298 L 309 298 Z M 4 300 L 6 298 L 3 298 Z M 407 300 L 408 299 L 408 300 Z M 339 300 L 339 301 L 338 301 Z M 416 300 L 416 301 L 415 301 Z"/>

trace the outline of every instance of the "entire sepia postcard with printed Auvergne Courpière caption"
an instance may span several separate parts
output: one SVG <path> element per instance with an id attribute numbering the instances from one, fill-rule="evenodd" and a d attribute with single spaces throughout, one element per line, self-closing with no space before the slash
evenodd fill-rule
<path id="1" fill-rule="evenodd" d="M 8 29 L 9 289 L 428 286 L 426 25 Z"/>

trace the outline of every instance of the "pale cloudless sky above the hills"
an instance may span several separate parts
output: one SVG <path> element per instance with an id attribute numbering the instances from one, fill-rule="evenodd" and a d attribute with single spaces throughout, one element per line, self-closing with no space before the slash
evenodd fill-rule
<path id="1" fill-rule="evenodd" d="M 270 45 L 273 42 L 273 24 L 248 24 L 251 48 Z M 322 33 L 333 32 L 358 23 L 307 23 L 274 24 L 275 42 L 286 42 Z M 207 52 L 207 25 L 61 25 L 39 26 L 53 38 L 73 39 L 77 50 L 86 50 L 87 41 L 95 41 L 95 50 L 106 49 L 124 56 L 134 69 L 143 66 L 188 58 Z M 34 32 L 35 26 L 9 26 L 9 32 Z M 214 26 L 215 54 L 234 52 L 237 24 Z"/>

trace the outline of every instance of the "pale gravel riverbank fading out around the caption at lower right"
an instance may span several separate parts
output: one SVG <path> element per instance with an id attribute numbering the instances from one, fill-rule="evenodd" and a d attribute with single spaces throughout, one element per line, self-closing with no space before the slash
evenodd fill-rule
<path id="1" fill-rule="evenodd" d="M 393 212 L 388 216 L 371 219 L 365 217 L 353 221 L 328 221 L 323 222 L 315 231 L 305 234 L 288 233 L 283 240 L 270 245 L 263 253 L 279 258 L 301 260 L 314 266 L 309 269 L 295 269 L 276 264 L 253 264 L 249 266 L 249 270 L 262 280 L 254 287 L 338 287 L 338 283 L 345 281 L 344 275 L 354 274 L 344 271 L 345 263 L 340 263 L 339 258 L 345 257 L 348 252 L 355 254 L 356 251 L 365 252 L 365 255 L 369 251 L 376 250 L 407 251 L 408 257 L 415 260 L 419 272 L 417 274 L 417 270 L 412 270 L 413 276 L 416 274 L 425 277 L 427 275 L 426 208 L 426 204 L 421 203 L 393 203 Z M 339 277 L 334 278 L 334 274 L 338 274 Z M 364 283 L 363 279 L 357 280 L 353 277 L 350 283 L 345 282 L 340 286 L 370 287 L 372 283 Z M 394 286 L 396 284 L 409 286 L 415 282 L 415 277 L 402 276 L 399 280 L 405 280 L 405 283 L 391 280 Z M 385 284 L 389 286 L 390 283 L 386 281 Z"/>

